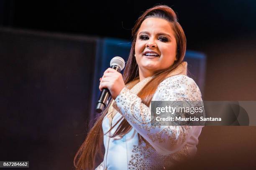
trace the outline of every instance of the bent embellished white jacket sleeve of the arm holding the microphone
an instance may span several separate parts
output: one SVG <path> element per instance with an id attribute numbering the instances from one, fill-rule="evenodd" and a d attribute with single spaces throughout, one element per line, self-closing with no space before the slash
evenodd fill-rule
<path id="1" fill-rule="evenodd" d="M 200 101 L 201 93 L 193 79 L 176 75 L 161 82 L 153 96 L 158 101 Z M 191 126 L 153 126 L 151 108 L 141 98 L 124 87 L 116 97 L 113 107 L 160 154 L 181 150 L 193 133 Z"/>

